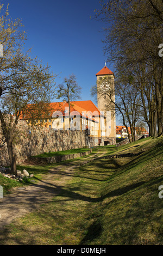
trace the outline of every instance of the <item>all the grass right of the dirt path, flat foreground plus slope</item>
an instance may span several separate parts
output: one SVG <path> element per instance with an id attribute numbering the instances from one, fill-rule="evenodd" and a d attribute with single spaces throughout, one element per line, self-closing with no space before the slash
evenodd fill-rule
<path id="1" fill-rule="evenodd" d="M 158 187 L 163 185 L 163 138 L 100 150 L 141 154 L 98 159 L 75 169 L 53 202 L 9 225 L 0 234 L 0 244 L 162 245 Z"/>

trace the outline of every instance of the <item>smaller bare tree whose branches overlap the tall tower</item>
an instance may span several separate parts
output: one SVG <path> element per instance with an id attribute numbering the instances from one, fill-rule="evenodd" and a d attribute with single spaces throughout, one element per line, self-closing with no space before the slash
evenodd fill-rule
<path id="1" fill-rule="evenodd" d="M 137 95 L 137 89 L 131 83 L 131 78 L 122 77 L 115 82 L 115 89 L 112 82 L 107 76 L 102 78 L 96 86 L 91 88 L 93 97 L 104 97 L 108 99 L 106 111 L 114 110 L 121 114 L 123 125 L 126 126 L 129 141 L 135 141 L 135 124 L 140 112 L 140 96 Z M 114 95 L 116 99 L 114 99 Z M 128 129 L 130 126 L 130 132 Z"/>

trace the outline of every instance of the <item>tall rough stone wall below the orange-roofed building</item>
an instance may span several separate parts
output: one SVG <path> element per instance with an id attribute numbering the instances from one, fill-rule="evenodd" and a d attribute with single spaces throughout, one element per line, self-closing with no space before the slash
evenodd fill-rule
<path id="1" fill-rule="evenodd" d="M 15 144 L 17 163 L 42 153 L 84 147 L 86 147 L 85 131 L 55 131 L 46 127 L 30 127 L 24 121 L 18 123 Z M 7 145 L 0 148 L 0 164 L 9 165 Z"/>

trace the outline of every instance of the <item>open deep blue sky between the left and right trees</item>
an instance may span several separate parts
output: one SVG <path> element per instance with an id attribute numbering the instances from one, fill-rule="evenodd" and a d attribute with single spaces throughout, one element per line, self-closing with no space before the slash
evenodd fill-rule
<path id="1" fill-rule="evenodd" d="M 26 47 L 58 74 L 57 84 L 71 74 L 82 87 L 82 100 L 92 100 L 90 88 L 104 67 L 104 23 L 93 19 L 99 0 L 2 0 L 9 16 L 22 19 Z M 90 16 L 92 19 L 90 19 Z M 111 71 L 109 63 L 106 63 Z M 53 101 L 57 101 L 54 99 Z M 97 105 L 97 103 L 96 103 Z"/>

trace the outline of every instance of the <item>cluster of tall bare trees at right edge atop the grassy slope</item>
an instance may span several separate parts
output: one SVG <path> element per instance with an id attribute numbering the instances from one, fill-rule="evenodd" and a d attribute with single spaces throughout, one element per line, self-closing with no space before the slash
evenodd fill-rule
<path id="1" fill-rule="evenodd" d="M 120 78 L 122 75 L 129 76 L 130 73 L 135 81 L 137 76 L 139 77 L 137 84 L 142 100 L 144 98 L 148 102 L 146 107 L 145 101 L 142 102 L 146 121 L 153 127 L 149 127 L 149 130 L 153 130 L 151 135 L 154 136 L 157 125 L 160 136 L 163 132 L 163 58 L 158 54 L 158 47 L 163 40 L 163 2 L 107 0 L 101 1 L 101 7 L 96 13 L 96 18 L 106 23 L 104 50 L 108 62 L 115 63 Z M 153 83 L 152 87 L 150 81 Z M 153 94 L 151 100 L 147 94 L 149 87 Z"/>

